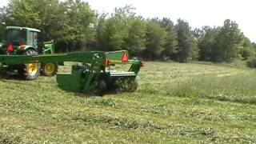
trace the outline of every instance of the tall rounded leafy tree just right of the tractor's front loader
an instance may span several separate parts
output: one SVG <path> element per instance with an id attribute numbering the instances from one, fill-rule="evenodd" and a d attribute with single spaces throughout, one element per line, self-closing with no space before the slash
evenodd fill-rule
<path id="1" fill-rule="evenodd" d="M 67 16 L 63 23 L 64 40 L 73 50 L 86 50 L 87 46 L 94 41 L 96 22 L 94 10 L 90 9 L 87 2 L 81 0 L 68 0 L 63 3 Z"/>

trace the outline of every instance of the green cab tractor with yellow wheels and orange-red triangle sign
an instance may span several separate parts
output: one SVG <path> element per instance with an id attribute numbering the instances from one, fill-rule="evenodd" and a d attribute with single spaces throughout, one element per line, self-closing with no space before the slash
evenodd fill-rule
<path id="1" fill-rule="evenodd" d="M 39 39 L 40 30 L 6 26 L 4 40 L 0 42 L 1 55 L 38 55 L 54 54 L 54 42 L 41 42 Z M 38 78 L 40 72 L 46 76 L 54 76 L 58 71 L 57 62 L 46 63 L 24 63 L 19 65 L 7 65 L 1 63 L 1 68 L 11 74 L 19 74 L 22 78 L 33 80 Z"/>

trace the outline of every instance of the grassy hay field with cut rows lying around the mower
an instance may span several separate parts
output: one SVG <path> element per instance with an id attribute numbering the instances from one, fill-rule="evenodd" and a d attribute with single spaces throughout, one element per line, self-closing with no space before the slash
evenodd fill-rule
<path id="1" fill-rule="evenodd" d="M 138 83 L 95 97 L 1 78 L 0 143 L 256 142 L 254 70 L 146 62 Z"/>

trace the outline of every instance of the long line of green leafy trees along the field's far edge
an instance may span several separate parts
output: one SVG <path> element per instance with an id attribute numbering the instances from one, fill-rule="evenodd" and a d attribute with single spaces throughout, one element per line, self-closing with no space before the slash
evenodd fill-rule
<path id="1" fill-rule="evenodd" d="M 0 8 L 0 22 L 42 30 L 42 39 L 54 39 L 58 52 L 129 50 L 149 60 L 233 62 L 254 58 L 256 50 L 230 19 L 192 29 L 183 19 L 143 18 L 132 6 L 99 14 L 81 0 L 10 0 Z"/>

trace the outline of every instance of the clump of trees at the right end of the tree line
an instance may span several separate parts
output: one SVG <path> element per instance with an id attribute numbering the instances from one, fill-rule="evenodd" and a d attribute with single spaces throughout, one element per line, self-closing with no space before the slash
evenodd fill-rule
<path id="1" fill-rule="evenodd" d="M 196 30 L 199 59 L 211 62 L 232 62 L 254 56 L 253 44 L 246 38 L 238 24 L 227 19 L 221 27 L 202 27 Z"/>

